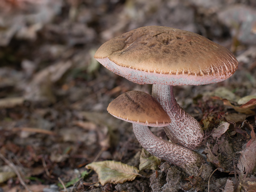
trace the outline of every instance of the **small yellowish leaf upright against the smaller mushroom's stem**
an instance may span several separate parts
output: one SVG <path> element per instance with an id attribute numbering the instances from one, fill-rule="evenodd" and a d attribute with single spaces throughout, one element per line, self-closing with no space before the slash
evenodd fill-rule
<path id="1" fill-rule="evenodd" d="M 161 161 L 159 158 L 151 155 L 148 151 L 142 148 L 140 153 L 140 171 L 144 169 L 158 170 L 158 165 L 160 165 L 160 163 Z"/>

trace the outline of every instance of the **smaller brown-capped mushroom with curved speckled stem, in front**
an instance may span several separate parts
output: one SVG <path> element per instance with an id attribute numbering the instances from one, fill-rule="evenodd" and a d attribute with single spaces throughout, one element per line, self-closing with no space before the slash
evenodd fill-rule
<path id="1" fill-rule="evenodd" d="M 130 91 L 118 96 L 108 105 L 108 112 L 116 118 L 132 123 L 133 132 L 141 146 L 149 153 L 175 164 L 192 175 L 204 159 L 194 151 L 155 136 L 148 126 L 170 124 L 170 117 L 151 95 Z"/>

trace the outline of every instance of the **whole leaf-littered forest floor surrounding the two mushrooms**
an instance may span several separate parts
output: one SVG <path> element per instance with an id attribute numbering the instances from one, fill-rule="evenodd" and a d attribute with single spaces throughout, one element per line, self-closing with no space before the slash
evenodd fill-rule
<path id="1" fill-rule="evenodd" d="M 93 55 L 148 25 L 205 36 L 233 52 L 238 69 L 217 84 L 174 87 L 205 131 L 207 163 L 194 175 L 159 161 L 131 181 L 101 185 L 85 165 L 139 167 L 142 151 L 132 124 L 108 114 L 108 104 L 152 85 L 117 76 Z M 255 0 L 0 1 L 0 192 L 255 192 L 255 113 Z M 163 129 L 151 131 L 167 140 Z"/>

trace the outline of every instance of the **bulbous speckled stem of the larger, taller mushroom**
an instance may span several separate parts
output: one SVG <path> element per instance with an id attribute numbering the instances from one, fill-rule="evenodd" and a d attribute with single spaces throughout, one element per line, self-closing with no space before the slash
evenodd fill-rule
<path id="1" fill-rule="evenodd" d="M 169 139 L 189 149 L 198 148 L 203 141 L 202 126 L 177 103 L 170 85 L 153 84 L 152 96 L 163 106 L 171 118 L 171 124 L 164 127 Z"/>

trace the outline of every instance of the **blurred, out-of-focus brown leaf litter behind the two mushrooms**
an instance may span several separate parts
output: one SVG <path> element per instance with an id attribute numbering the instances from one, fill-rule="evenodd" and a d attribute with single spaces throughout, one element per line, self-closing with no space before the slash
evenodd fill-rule
<path id="1" fill-rule="evenodd" d="M 174 88 L 180 106 L 199 122 L 227 110 L 212 96 L 234 105 L 256 96 L 255 0 L 1 0 L 0 173 L 12 172 L 9 162 L 30 189 L 47 191 L 53 184 L 58 191 L 58 178 L 79 178 L 92 161 L 136 164 L 141 147 L 132 125 L 106 108 L 124 92 L 151 93 L 152 86 L 117 76 L 93 55 L 109 39 L 148 25 L 198 33 L 239 61 L 224 82 Z M 165 137 L 162 130 L 156 134 Z M 9 174 L 0 179 L 0 191 L 25 191 L 17 173 Z M 96 190 L 87 182 L 76 190 Z"/>

